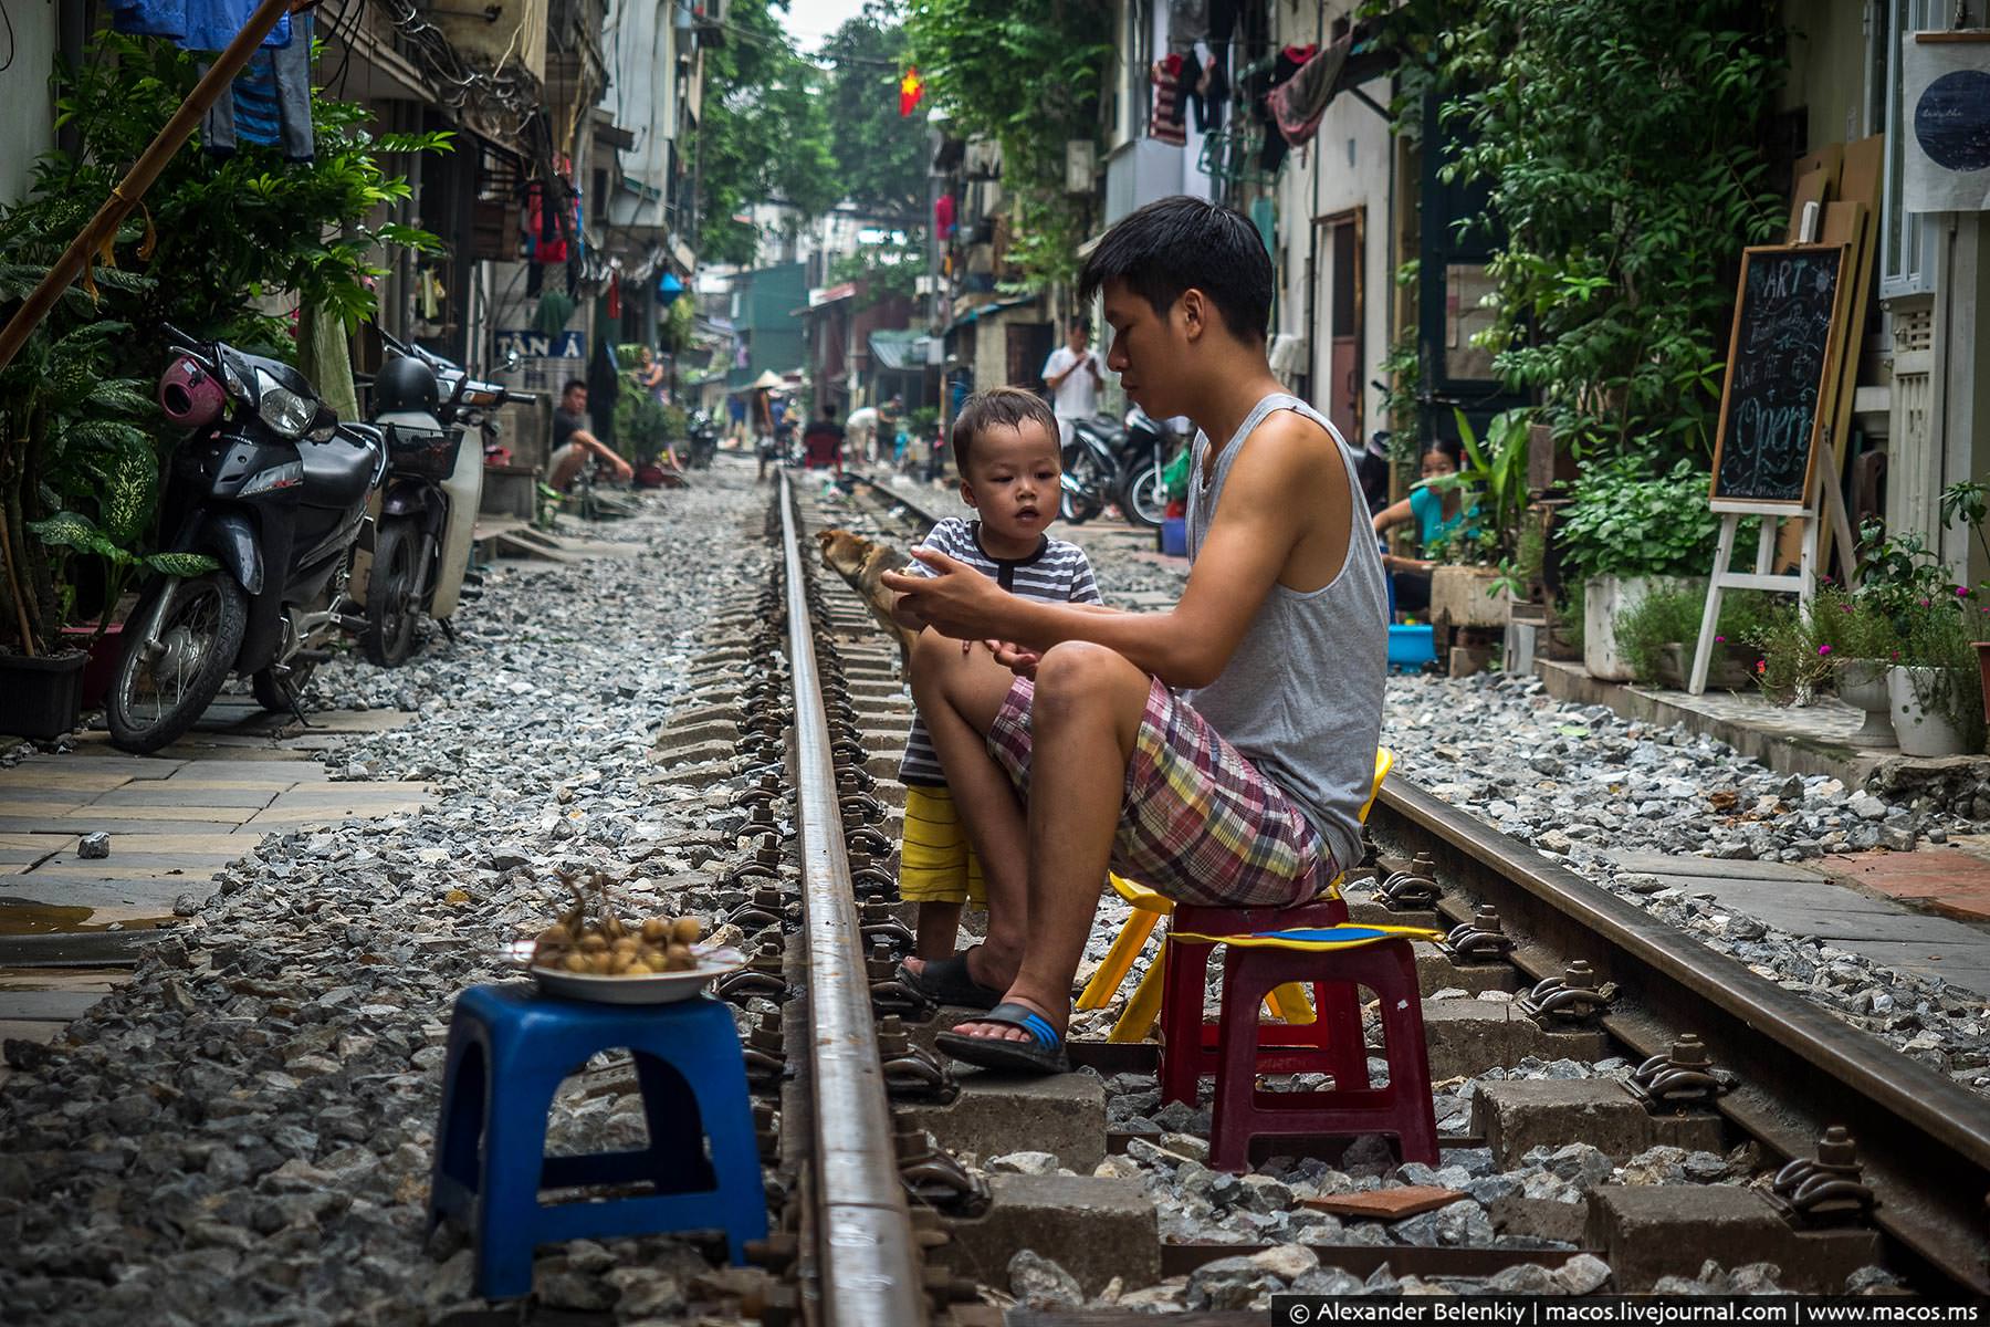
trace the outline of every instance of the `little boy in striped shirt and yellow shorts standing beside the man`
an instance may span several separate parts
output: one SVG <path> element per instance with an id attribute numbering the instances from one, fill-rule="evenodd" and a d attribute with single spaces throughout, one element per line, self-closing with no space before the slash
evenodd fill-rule
<path id="1" fill-rule="evenodd" d="M 1063 475 L 1051 408 L 1021 388 L 977 392 L 961 404 L 951 444 L 961 501 L 981 519 L 947 517 L 919 547 L 937 549 L 1023 599 L 1098 603 L 1085 549 L 1043 533 L 1057 515 Z M 917 561 L 905 573 L 933 575 Z M 903 607 L 903 597 L 894 617 L 913 631 L 925 627 Z M 967 955 L 953 953 L 961 905 L 987 901 L 981 863 L 919 718 L 911 720 L 897 778 L 905 784 L 897 887 L 903 899 L 919 905 L 915 953 L 925 959 L 915 985 L 943 1005 L 991 1009 L 1001 991 L 973 981 Z"/>

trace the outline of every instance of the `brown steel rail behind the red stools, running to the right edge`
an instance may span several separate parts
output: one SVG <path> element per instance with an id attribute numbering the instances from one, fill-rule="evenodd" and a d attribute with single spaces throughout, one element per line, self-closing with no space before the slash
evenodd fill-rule
<path id="1" fill-rule="evenodd" d="M 1797 1158 L 1827 1126 L 1847 1126 L 1879 1198 L 1875 1224 L 1990 1295 L 1990 1102 L 1415 784 L 1391 776 L 1377 810 L 1383 840 L 1415 840 L 1441 875 L 1498 909 L 1522 969 L 1558 977 L 1552 965 L 1588 959 L 1618 983 L 1612 1037 L 1662 1054 L 1674 1035 L 1697 1033 L 1741 1074 L 1719 1110 L 1745 1134 Z"/>

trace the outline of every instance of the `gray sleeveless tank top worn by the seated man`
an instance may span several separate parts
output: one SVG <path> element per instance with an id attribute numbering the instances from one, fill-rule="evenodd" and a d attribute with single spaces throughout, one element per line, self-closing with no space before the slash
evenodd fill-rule
<path id="1" fill-rule="evenodd" d="M 1218 454 L 1208 487 L 1202 475 L 1210 440 L 1196 434 L 1188 481 L 1190 563 L 1210 533 L 1230 466 L 1274 410 L 1294 410 L 1327 430 L 1347 468 L 1349 493 L 1359 497 L 1361 475 L 1347 440 L 1297 396 L 1274 392 Z M 1305 595 L 1272 585 L 1222 674 L 1188 692 L 1196 712 L 1299 804 L 1341 867 L 1361 859 L 1361 804 L 1375 782 L 1389 674 L 1389 591 L 1381 553 L 1369 523 L 1359 519 L 1361 503 L 1353 501 L 1351 509 L 1355 519 L 1339 575 Z"/>

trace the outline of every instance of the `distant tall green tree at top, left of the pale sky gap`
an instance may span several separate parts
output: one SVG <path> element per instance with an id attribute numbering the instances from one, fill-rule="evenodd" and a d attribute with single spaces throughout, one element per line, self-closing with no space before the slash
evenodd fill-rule
<path id="1" fill-rule="evenodd" d="M 786 0 L 732 0 L 726 42 L 704 58 L 698 125 L 698 251 L 748 267 L 756 203 L 794 209 L 796 227 L 836 203 L 836 157 L 824 111 L 826 76 L 782 30 Z"/>

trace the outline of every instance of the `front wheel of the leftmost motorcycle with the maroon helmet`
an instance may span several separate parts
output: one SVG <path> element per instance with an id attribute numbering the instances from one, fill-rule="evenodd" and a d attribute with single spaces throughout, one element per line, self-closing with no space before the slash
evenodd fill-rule
<path id="1" fill-rule="evenodd" d="M 171 579 L 153 585 L 131 621 L 151 621 L 153 605 L 171 585 Z M 111 744 L 145 756 L 187 732 L 227 680 L 247 631 L 249 601 L 233 577 L 211 571 L 181 581 L 153 637 L 157 653 L 147 659 L 149 633 L 139 629 L 117 657 L 103 700 Z"/>

